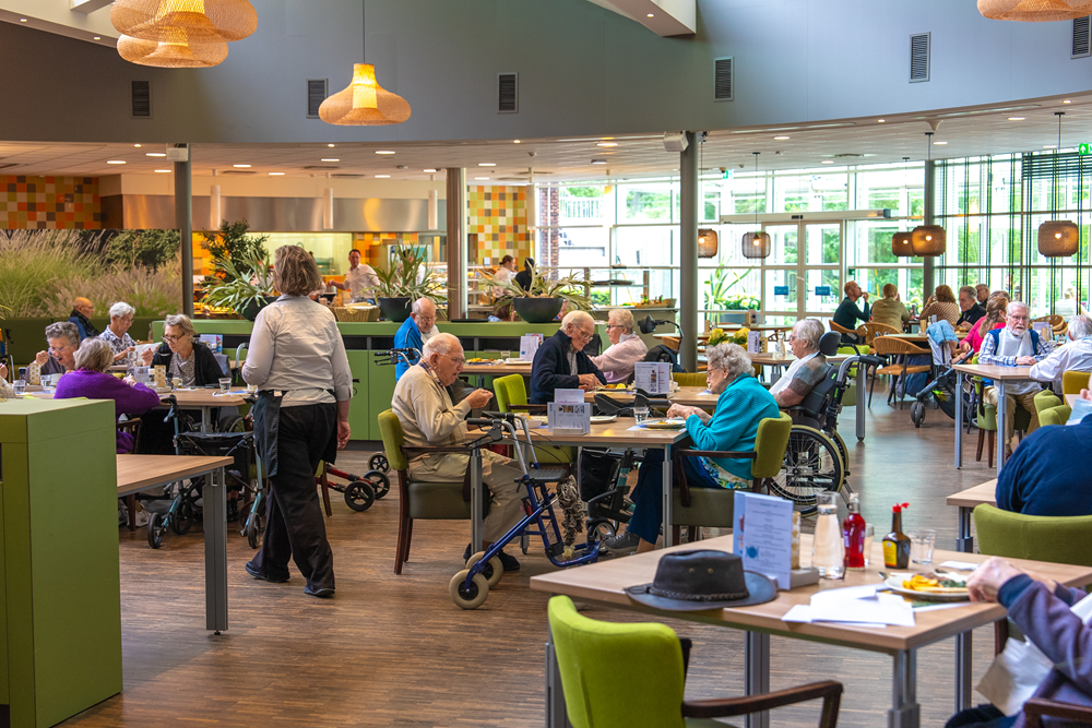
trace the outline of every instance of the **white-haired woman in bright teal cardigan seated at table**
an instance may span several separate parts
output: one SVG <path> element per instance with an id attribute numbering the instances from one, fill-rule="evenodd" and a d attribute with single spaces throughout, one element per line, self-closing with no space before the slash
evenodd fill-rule
<path id="1" fill-rule="evenodd" d="M 672 405 L 668 417 L 685 417 L 686 429 L 696 450 L 748 451 L 755 449 L 761 420 L 781 416 L 773 395 L 752 375 L 747 353 L 735 344 L 717 344 L 708 351 L 709 391 L 720 395 L 710 415 L 698 407 Z M 749 488 L 751 462 L 707 457 L 686 457 L 687 484 L 691 488 Z M 637 509 L 625 534 L 608 539 L 604 546 L 613 553 L 656 547 L 663 523 L 663 468 L 661 450 L 649 450 L 637 477 L 633 502 Z M 678 475 L 675 474 L 677 478 Z"/>

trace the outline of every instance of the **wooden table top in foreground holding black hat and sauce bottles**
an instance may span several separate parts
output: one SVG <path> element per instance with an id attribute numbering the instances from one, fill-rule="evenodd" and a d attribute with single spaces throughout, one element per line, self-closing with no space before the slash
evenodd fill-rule
<path id="1" fill-rule="evenodd" d="M 703 549 L 732 550 L 732 536 L 721 536 L 701 541 Z M 531 588 L 553 594 L 565 594 L 582 601 L 594 601 L 610 607 L 630 609 L 660 618 L 677 618 L 721 624 L 735 629 L 765 632 L 774 635 L 814 640 L 829 644 L 845 645 L 858 649 L 893 654 L 898 651 L 922 647 L 960 632 L 988 624 L 1005 616 L 1005 608 L 996 604 L 966 604 L 952 609 L 919 611 L 914 614 L 914 626 L 864 628 L 832 622 L 800 623 L 784 622 L 782 617 L 796 605 L 807 605 L 811 595 L 821 589 L 844 586 L 879 584 L 879 571 L 883 568 L 882 545 L 879 539 L 873 545 L 870 565 L 864 571 L 847 572 L 845 580 L 821 581 L 820 584 L 799 587 L 791 592 L 779 592 L 778 598 L 764 605 L 741 609 L 720 609 L 701 612 L 665 612 L 644 607 L 631 600 L 625 593 L 628 586 L 648 584 L 656 573 L 656 564 L 667 551 L 692 549 L 692 544 L 658 549 L 649 553 L 638 553 L 624 559 L 612 559 L 594 564 L 577 566 L 541 574 L 531 578 Z M 800 536 L 800 554 L 809 562 L 811 536 Z M 978 553 L 957 551 L 934 551 L 934 561 L 948 560 L 982 562 L 989 557 Z M 1092 568 L 1068 564 L 1044 563 L 1010 559 L 1022 569 L 1053 578 L 1070 586 L 1080 586 L 1092 580 Z M 925 571 L 917 566 L 912 571 Z"/>

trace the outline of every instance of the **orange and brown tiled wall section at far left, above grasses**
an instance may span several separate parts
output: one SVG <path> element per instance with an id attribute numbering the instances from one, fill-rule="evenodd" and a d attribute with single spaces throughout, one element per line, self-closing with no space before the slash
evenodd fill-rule
<path id="1" fill-rule="evenodd" d="M 0 227 L 5 229 L 103 227 L 97 177 L 0 176 Z"/>

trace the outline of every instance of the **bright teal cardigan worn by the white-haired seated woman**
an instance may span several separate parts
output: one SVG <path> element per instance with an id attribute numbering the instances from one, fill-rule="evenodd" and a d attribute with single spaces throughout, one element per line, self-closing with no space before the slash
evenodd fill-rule
<path id="1" fill-rule="evenodd" d="M 702 423 L 697 415 L 690 415 L 686 429 L 695 450 L 748 452 L 755 450 L 758 423 L 767 417 L 781 417 L 778 402 L 757 379 L 740 374 L 721 392 L 709 425 Z M 753 461 L 717 457 L 714 462 L 738 478 L 751 479 Z"/>

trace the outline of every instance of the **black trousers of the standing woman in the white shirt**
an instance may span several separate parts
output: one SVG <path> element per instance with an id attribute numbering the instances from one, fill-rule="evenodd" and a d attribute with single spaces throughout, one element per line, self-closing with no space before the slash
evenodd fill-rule
<path id="1" fill-rule="evenodd" d="M 334 588 L 334 554 L 314 487 L 314 472 L 336 435 L 337 405 L 282 407 L 277 473 L 270 478 L 265 538 L 253 565 L 263 576 L 288 575 L 288 559 L 312 589 Z"/>

